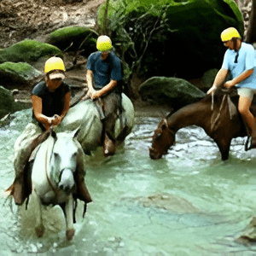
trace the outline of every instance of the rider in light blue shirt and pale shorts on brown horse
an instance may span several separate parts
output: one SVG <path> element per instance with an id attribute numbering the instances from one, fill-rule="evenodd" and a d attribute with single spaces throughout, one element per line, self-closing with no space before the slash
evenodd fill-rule
<path id="1" fill-rule="evenodd" d="M 256 122 L 250 106 L 256 92 L 256 60 L 253 45 L 241 41 L 241 35 L 235 27 L 229 27 L 221 33 L 221 40 L 228 49 L 224 54 L 221 69 L 207 94 L 212 94 L 222 84 L 230 88 L 236 86 L 240 96 L 238 111 L 247 126 L 247 133 L 251 137 L 250 148 L 256 147 Z M 230 73 L 230 80 L 225 81 Z"/>

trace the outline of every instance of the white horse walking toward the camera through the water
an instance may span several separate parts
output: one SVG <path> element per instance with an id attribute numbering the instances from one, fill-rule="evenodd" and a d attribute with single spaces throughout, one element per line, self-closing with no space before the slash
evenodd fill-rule
<path id="1" fill-rule="evenodd" d="M 77 133 L 78 131 L 61 132 L 49 136 L 40 145 L 36 154 L 32 166 L 32 196 L 35 198 L 35 207 L 39 212 L 36 219 L 38 237 L 44 234 L 42 204 L 64 204 L 67 240 L 71 240 L 74 236 L 73 192 L 76 189 L 74 173 L 78 165 L 84 165 L 84 162 L 81 163 L 83 149 L 76 139 Z"/>

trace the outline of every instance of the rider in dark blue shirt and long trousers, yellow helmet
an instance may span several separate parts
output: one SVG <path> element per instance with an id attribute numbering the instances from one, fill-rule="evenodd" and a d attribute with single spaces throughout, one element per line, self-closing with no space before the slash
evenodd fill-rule
<path id="1" fill-rule="evenodd" d="M 112 49 L 108 36 L 100 36 L 96 41 L 97 52 L 92 53 L 87 62 L 86 79 L 88 94 L 101 113 L 103 123 L 103 152 L 108 156 L 115 152 L 115 122 L 121 106 L 119 81 L 123 79 L 121 61 Z M 86 97 L 86 96 L 85 96 Z M 85 98 L 84 97 L 84 98 Z"/>

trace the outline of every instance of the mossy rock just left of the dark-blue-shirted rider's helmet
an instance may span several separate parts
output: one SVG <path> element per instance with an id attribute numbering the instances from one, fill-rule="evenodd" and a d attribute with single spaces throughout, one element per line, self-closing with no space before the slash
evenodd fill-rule
<path id="1" fill-rule="evenodd" d="M 84 41 L 84 39 L 86 40 Z M 84 49 L 84 55 L 90 55 L 91 52 L 96 50 L 95 32 L 90 28 L 84 26 L 66 26 L 62 27 L 55 32 L 49 34 L 46 43 L 55 45 L 61 50 L 67 49 L 69 51 L 78 50 L 80 45 Z"/>

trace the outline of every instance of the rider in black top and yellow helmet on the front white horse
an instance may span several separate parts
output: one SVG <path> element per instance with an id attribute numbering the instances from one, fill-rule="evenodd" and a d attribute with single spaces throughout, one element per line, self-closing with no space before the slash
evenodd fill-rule
<path id="1" fill-rule="evenodd" d="M 65 71 L 61 58 L 55 56 L 49 58 L 44 65 L 44 81 L 39 82 L 32 90 L 32 123 L 26 126 L 15 143 L 15 148 L 19 148 L 15 150 L 15 182 L 7 189 L 17 205 L 22 204 L 27 196 L 24 176 L 33 149 L 44 142 L 49 136 L 49 132 L 47 133 L 50 131 L 49 128 L 59 125 L 69 109 L 71 96 L 69 85 L 63 81 Z M 84 200 L 87 195 L 84 170 L 78 169 L 80 170 L 76 174 L 79 180 L 77 189 L 80 198 L 79 196 L 78 198 Z"/>

